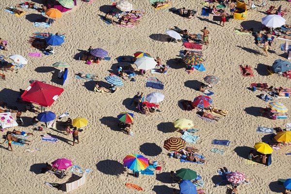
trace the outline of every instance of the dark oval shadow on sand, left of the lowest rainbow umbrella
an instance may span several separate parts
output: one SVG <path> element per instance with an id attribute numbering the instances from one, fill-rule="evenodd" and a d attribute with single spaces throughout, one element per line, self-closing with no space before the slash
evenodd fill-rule
<path id="1" fill-rule="evenodd" d="M 118 161 L 104 160 L 96 164 L 97 170 L 105 175 L 121 175 L 126 172 L 124 165 Z"/>

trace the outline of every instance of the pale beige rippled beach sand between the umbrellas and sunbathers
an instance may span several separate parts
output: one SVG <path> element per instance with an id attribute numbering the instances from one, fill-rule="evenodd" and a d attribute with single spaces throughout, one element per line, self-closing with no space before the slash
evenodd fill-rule
<path id="1" fill-rule="evenodd" d="M 250 184 L 239 187 L 240 194 L 274 194 L 282 192 L 283 186 L 277 184 L 277 178 L 290 178 L 290 147 L 275 150 L 273 162 L 270 166 L 261 164 L 246 164 L 245 157 L 251 147 L 266 135 L 257 133 L 258 125 L 265 127 L 284 127 L 289 119 L 270 120 L 259 116 L 259 108 L 266 107 L 267 102 L 259 99 L 259 92 L 251 92 L 247 89 L 252 82 L 267 82 L 269 85 L 288 87 L 290 80 L 278 75 L 265 76 L 267 65 L 272 65 L 274 60 L 283 59 L 279 49 L 283 40 L 275 39 L 270 49 L 269 57 L 262 55 L 262 46 L 254 44 L 254 37 L 248 35 L 235 35 L 234 28 L 240 28 L 240 24 L 246 28 L 259 28 L 261 18 L 266 16 L 267 8 L 257 7 L 247 12 L 245 20 L 230 20 L 225 27 L 212 21 L 212 15 L 200 16 L 202 2 L 194 0 L 171 0 L 172 5 L 155 10 L 148 0 L 131 0 L 134 8 L 146 11 L 141 24 L 133 29 L 118 28 L 107 25 L 101 21 L 98 15 L 105 15 L 106 6 L 110 0 L 95 0 L 92 4 L 86 4 L 78 0 L 78 6 L 74 10 L 63 14 L 49 29 L 41 29 L 32 26 L 32 21 L 38 14 L 27 11 L 25 16 L 16 17 L 4 11 L 7 5 L 15 5 L 19 0 L 0 0 L 0 37 L 9 42 L 10 54 L 21 54 L 29 63 L 16 74 L 8 72 L 6 81 L 0 82 L 0 99 L 9 105 L 24 108 L 23 104 L 16 104 L 18 89 L 25 89 L 29 80 L 36 79 L 46 81 L 49 84 L 63 87 L 65 91 L 47 110 L 56 114 L 69 112 L 71 118 L 85 117 L 89 124 L 79 133 L 80 145 L 71 146 L 72 137 L 66 136 L 57 130 L 45 129 L 33 131 L 32 126 L 17 127 L 15 129 L 33 132 L 35 135 L 28 137 L 32 141 L 31 146 L 13 146 L 14 152 L 7 151 L 7 144 L 1 144 L 0 162 L 0 193 L 8 194 L 54 194 L 61 193 L 56 189 L 45 185 L 45 182 L 65 182 L 71 176 L 67 172 L 65 179 L 58 179 L 52 174 L 39 174 L 39 169 L 44 162 L 52 162 L 58 158 L 67 158 L 73 164 L 83 168 L 91 168 L 87 174 L 85 185 L 71 193 L 75 194 L 124 194 L 141 193 L 130 190 L 125 183 L 137 184 L 145 189 L 146 194 L 170 194 L 172 188 L 178 189 L 178 184 L 171 185 L 169 172 L 180 168 L 191 168 L 201 175 L 205 182 L 207 194 L 224 194 L 226 186 L 214 188 L 217 182 L 219 167 L 227 166 L 232 171 L 244 173 L 250 179 Z M 261 4 L 257 3 L 256 4 Z M 287 1 L 267 1 L 270 5 L 290 7 Z M 39 5 L 39 4 L 38 4 Z M 168 11 L 168 8 L 186 7 L 198 11 L 193 19 L 185 19 Z M 286 23 L 290 24 L 291 13 L 287 13 Z M 196 72 L 188 75 L 185 68 L 173 62 L 184 49 L 181 43 L 168 43 L 165 41 L 165 30 L 178 26 L 188 29 L 193 33 L 199 33 L 205 26 L 210 30 L 210 44 L 203 46 L 205 58 L 205 72 Z M 51 56 L 41 58 L 28 57 L 28 52 L 36 52 L 27 43 L 33 32 L 60 32 L 66 33 L 65 43 L 55 48 Z M 152 38 L 151 38 L 152 37 Z M 74 56 L 79 49 L 86 50 L 89 46 L 103 48 L 109 52 L 111 61 L 102 61 L 98 65 L 85 65 L 83 61 L 77 61 Z M 96 73 L 102 81 L 109 75 L 109 71 L 116 69 L 118 56 L 132 55 L 136 51 L 146 51 L 153 57 L 159 56 L 162 62 L 172 66 L 166 75 L 155 74 L 165 83 L 164 89 L 156 90 L 146 88 L 146 77 L 136 76 L 136 82 L 124 81 L 124 86 L 118 87 L 113 94 L 101 94 L 93 92 L 94 81 L 75 79 L 74 73 Z M 69 78 L 65 86 L 59 84 L 57 69 L 52 64 L 63 61 L 71 65 Z M 238 65 L 250 65 L 254 77 L 244 78 Z M 184 67 L 184 66 L 183 66 Z M 195 89 L 199 81 L 207 75 L 215 75 L 221 78 L 222 83 L 214 88 L 211 96 L 215 107 L 228 110 L 226 117 L 219 122 L 210 123 L 198 118 L 194 112 L 185 112 L 181 100 L 193 100 L 202 95 Z M 148 73 L 147 76 L 150 76 Z M 131 98 L 136 91 L 144 94 L 162 92 L 165 95 L 161 103 L 161 113 L 151 116 L 136 113 L 130 106 Z M 279 99 L 291 110 L 290 98 Z M 117 128 L 116 115 L 120 112 L 135 113 L 134 136 L 128 136 Z M 23 113 L 24 122 L 29 125 L 33 113 Z M 16 115 L 14 115 L 16 116 Z M 187 118 L 194 121 L 194 128 L 200 131 L 195 133 L 200 136 L 197 144 L 189 144 L 200 149 L 200 153 L 206 157 L 207 163 L 192 164 L 181 163 L 175 159 L 169 159 L 163 141 L 170 137 L 179 137 L 181 134 L 175 131 L 172 122 L 178 118 Z M 65 118 L 62 119 L 65 121 Z M 11 129 L 11 128 L 10 128 Z M 61 128 L 58 128 L 61 129 Z M 53 134 L 59 136 L 59 141 L 54 143 L 42 142 L 40 135 Z M 1 132 L 4 134 L 4 132 Z M 214 146 L 213 139 L 228 139 L 230 146 Z M 2 140 L 3 141 L 3 140 Z M 2 143 L 2 142 L 1 142 Z M 210 153 L 210 148 L 225 149 L 225 154 Z M 39 148 L 40 151 L 28 153 L 25 148 Z M 129 176 L 129 170 L 123 167 L 122 160 L 129 154 L 142 154 L 149 159 L 163 160 L 166 162 L 162 171 L 155 171 L 154 176 L 141 175 L 139 178 Z"/>

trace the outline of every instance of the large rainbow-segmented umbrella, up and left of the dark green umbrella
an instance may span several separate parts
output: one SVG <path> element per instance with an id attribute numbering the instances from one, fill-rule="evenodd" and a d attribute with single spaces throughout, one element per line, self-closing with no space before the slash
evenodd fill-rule
<path id="1" fill-rule="evenodd" d="M 139 154 L 127 155 L 123 159 L 123 165 L 128 167 L 130 170 L 142 171 L 148 166 L 147 159 Z"/>

